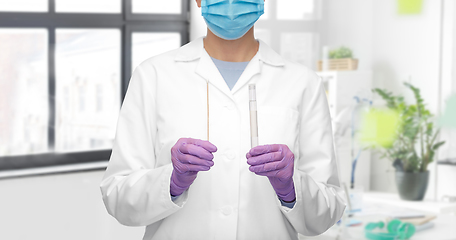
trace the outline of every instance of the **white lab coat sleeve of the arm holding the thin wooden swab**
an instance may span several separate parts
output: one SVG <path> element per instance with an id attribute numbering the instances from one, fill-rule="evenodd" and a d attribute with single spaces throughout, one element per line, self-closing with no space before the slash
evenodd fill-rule
<path id="1" fill-rule="evenodd" d="M 117 122 L 108 168 L 100 188 L 109 214 L 127 226 L 146 226 L 178 211 L 187 193 L 173 202 L 170 164 L 156 166 L 156 72 L 150 63 L 133 73 Z"/>

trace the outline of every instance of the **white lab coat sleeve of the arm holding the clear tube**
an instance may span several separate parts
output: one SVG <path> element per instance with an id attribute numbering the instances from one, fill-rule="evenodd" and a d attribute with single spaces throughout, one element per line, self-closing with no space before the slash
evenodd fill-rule
<path id="1" fill-rule="evenodd" d="M 306 76 L 307 75 L 307 76 Z M 333 226 L 345 210 L 345 193 L 340 187 L 334 152 L 331 117 L 323 84 L 309 71 L 302 96 L 299 153 L 295 154 L 293 180 L 296 204 L 280 206 L 294 229 L 315 236 Z"/>

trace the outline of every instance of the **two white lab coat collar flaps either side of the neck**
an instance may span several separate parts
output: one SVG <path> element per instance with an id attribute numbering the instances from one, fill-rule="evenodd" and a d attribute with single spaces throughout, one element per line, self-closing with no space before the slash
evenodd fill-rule
<path id="1" fill-rule="evenodd" d="M 285 66 L 285 62 L 279 54 L 262 40 L 258 39 L 258 42 L 260 43 L 260 48 L 257 55 L 260 61 L 275 67 Z M 191 62 L 201 58 L 204 52 L 203 37 L 200 37 L 182 46 L 174 60 L 178 62 Z"/>

